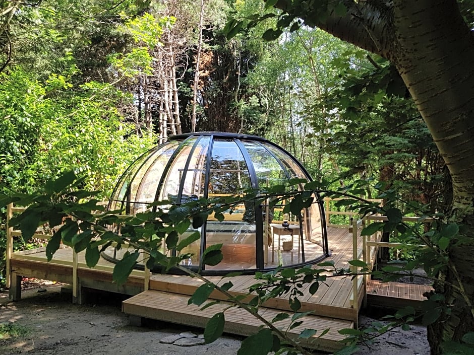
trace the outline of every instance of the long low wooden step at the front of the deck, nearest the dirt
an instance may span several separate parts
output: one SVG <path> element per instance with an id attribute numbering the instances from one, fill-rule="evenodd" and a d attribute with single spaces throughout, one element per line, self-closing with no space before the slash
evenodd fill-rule
<path id="1" fill-rule="evenodd" d="M 229 305 L 221 302 L 200 310 L 198 306 L 188 306 L 188 300 L 189 296 L 186 295 L 148 290 L 122 302 L 122 311 L 133 316 L 204 328 L 207 321 L 214 314 L 224 311 Z M 281 311 L 271 308 L 262 307 L 259 310 L 259 314 L 269 321 L 278 313 L 281 313 Z M 235 307 L 226 309 L 224 315 L 224 332 L 230 334 L 249 336 L 258 332 L 259 327 L 263 324 L 247 311 Z M 289 330 L 290 336 L 298 338 L 298 335 L 305 328 L 316 329 L 315 336 L 309 339 L 301 339 L 301 343 L 304 347 L 323 351 L 332 352 L 341 348 L 341 340 L 345 338 L 345 335 L 339 334 L 338 330 L 353 328 L 353 322 L 334 318 L 310 315 L 300 320 L 303 321 L 303 324 Z M 281 329 L 286 329 L 290 324 L 290 318 L 276 324 Z M 328 333 L 319 338 L 318 335 L 327 328 L 329 328 Z"/>

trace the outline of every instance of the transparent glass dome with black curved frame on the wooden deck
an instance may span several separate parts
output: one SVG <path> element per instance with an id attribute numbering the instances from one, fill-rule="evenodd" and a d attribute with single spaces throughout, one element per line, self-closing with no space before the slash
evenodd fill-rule
<path id="1" fill-rule="evenodd" d="M 293 178 L 311 181 L 301 163 L 267 139 L 222 132 L 180 134 L 127 169 L 115 186 L 108 209 L 135 215 L 157 200 L 180 204 L 202 197 L 242 195 Z M 193 254 L 182 264 L 198 270 L 203 251 L 218 243 L 222 243 L 223 260 L 216 266 L 204 265 L 201 273 L 253 273 L 325 258 L 328 244 L 323 203 L 319 196 L 314 197 L 315 202 L 304 208 L 301 216 L 283 215 L 284 201 L 270 207 L 268 200 L 235 206 L 224 212 L 222 222 L 209 216 L 202 227 L 190 227 L 180 236 L 184 239 L 195 231 L 201 234 L 200 240 L 181 251 Z M 162 251 L 176 254 L 176 250 Z M 104 257 L 115 261 L 118 252 L 108 251 Z M 159 272 L 160 267 L 153 271 Z"/>

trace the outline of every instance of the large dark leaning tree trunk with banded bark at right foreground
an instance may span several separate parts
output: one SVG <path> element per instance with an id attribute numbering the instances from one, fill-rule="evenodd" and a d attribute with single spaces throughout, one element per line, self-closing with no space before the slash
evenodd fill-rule
<path id="1" fill-rule="evenodd" d="M 279 0 L 277 7 L 392 61 L 449 169 L 447 221 L 465 225 L 467 242 L 449 248 L 449 265 L 435 285 L 452 309 L 429 327 L 431 351 L 438 355 L 442 342 L 459 341 L 474 329 L 473 33 L 454 0 L 346 1 L 346 15 L 331 13 L 324 22 L 293 4 Z"/>

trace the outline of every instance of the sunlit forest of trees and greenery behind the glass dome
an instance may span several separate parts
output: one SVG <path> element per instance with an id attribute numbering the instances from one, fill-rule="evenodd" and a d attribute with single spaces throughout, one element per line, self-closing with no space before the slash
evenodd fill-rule
<path id="1" fill-rule="evenodd" d="M 459 2 L 472 24 L 469 4 Z M 278 10 L 263 1 L 2 0 L 0 9 L 4 189 L 30 192 L 75 169 L 106 198 L 168 136 L 219 130 L 265 136 L 325 186 L 374 177 L 423 210 L 451 203 L 445 163 L 395 67 L 316 28 L 268 31 Z M 226 28 L 256 14 L 267 21 Z M 5 255 L 3 240 L 5 228 Z"/>

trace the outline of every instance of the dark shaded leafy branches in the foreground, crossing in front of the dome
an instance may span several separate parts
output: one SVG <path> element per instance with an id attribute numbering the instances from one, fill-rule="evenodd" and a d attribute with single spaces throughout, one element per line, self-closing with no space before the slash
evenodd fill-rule
<path id="1" fill-rule="evenodd" d="M 243 303 L 242 297 L 232 296 L 227 292 L 232 287 L 231 282 L 217 286 L 203 276 L 180 265 L 181 260 L 190 257 L 189 254 L 180 252 L 185 250 L 185 247 L 192 243 L 195 238 L 193 234 L 184 239 L 179 237 L 185 234 L 191 225 L 193 228 L 201 226 L 207 216 L 214 215 L 219 220 L 221 212 L 234 204 L 242 202 L 242 197 L 199 199 L 182 205 L 170 205 L 169 201 L 157 201 L 152 204 L 156 209 L 125 219 L 116 215 L 113 211 L 96 216 L 92 214 L 92 211 L 103 209 L 103 207 L 96 204 L 97 200 L 94 199 L 94 192 L 79 189 L 83 186 L 84 179 L 77 178 L 73 172 L 67 172 L 56 180 L 47 182 L 41 191 L 32 194 L 14 193 L 10 196 L 3 196 L 0 199 L 0 205 L 12 201 L 29 205 L 22 215 L 11 221 L 13 225 L 19 226 L 25 240 L 32 236 L 37 225 L 44 222 L 50 225 L 58 225 L 63 221 L 62 227 L 54 233 L 46 247 L 48 259 L 52 258 L 62 242 L 64 245 L 74 248 L 76 252 L 85 251 L 86 263 L 89 267 L 93 267 L 98 261 L 100 251 L 107 248 L 112 242 L 116 243 L 118 247 L 127 243 L 128 251 L 123 259 L 116 264 L 113 271 L 112 277 L 117 283 L 125 282 L 143 252 L 146 253 L 147 266 L 150 268 L 154 264 L 160 264 L 166 270 L 179 268 L 194 277 L 201 278 L 204 283 L 189 299 L 189 304 L 192 303 L 207 308 L 212 302 L 205 304 L 205 301 L 211 292 L 217 290 L 227 297 L 227 301 L 230 302 L 229 307 L 244 308 L 265 324 L 258 333 L 243 341 L 239 353 L 258 354 L 261 351 L 268 352 L 270 350 L 277 351 L 277 353 L 284 351 L 291 354 L 308 353 L 298 342 L 289 339 L 285 335 L 287 330 L 301 325 L 303 318 L 311 313 L 299 312 L 301 308 L 299 297 L 303 295 L 301 290 L 309 285 L 310 292 L 314 294 L 327 278 L 354 275 L 354 271 L 336 269 L 331 262 L 319 263 L 315 268 L 276 268 L 266 273 L 256 274 L 256 283 L 249 290 L 249 296 L 252 295 L 253 298 L 248 304 Z M 301 181 L 295 180 L 291 183 L 298 184 Z M 407 262 L 402 267 L 387 266 L 380 271 L 372 272 L 374 275 L 382 276 L 384 280 L 393 280 L 401 275 L 410 275 L 412 270 L 422 263 L 428 276 L 436 278 L 440 269 L 451 268 L 447 257 L 450 248 L 465 243 L 458 225 L 446 225 L 437 221 L 433 223 L 433 229 L 428 232 L 420 232 L 419 227 L 424 224 L 424 218 L 421 218 L 414 226 L 408 226 L 402 221 L 403 212 L 401 210 L 391 207 L 390 204 L 381 207 L 376 202 L 369 202 L 351 194 L 360 192 L 362 186 L 363 182 L 361 181 L 354 185 L 353 190 L 329 191 L 318 188 L 318 184 L 312 182 L 307 183 L 305 191 L 301 193 L 285 192 L 291 191 L 291 186 L 277 186 L 270 188 L 268 191 L 261 191 L 261 193 L 267 195 L 257 196 L 255 193 L 249 193 L 245 199 L 257 199 L 260 203 L 264 197 L 271 196 L 273 197 L 271 203 L 278 203 L 280 199 L 288 200 L 291 197 L 291 201 L 285 204 L 284 212 L 298 214 L 302 208 L 312 202 L 312 194 L 315 191 L 331 196 L 346 196 L 348 199 L 336 203 L 350 205 L 353 210 L 358 210 L 361 215 L 383 213 L 388 218 L 387 223 L 368 225 L 362 231 L 363 235 L 370 235 L 378 230 L 388 232 L 397 230 L 405 238 L 414 238 L 427 246 L 427 248 L 420 251 L 421 257 L 418 260 Z M 381 191 L 381 193 L 384 192 Z M 407 210 L 410 208 L 412 207 L 407 206 Z M 116 234 L 110 229 L 104 228 L 105 225 L 118 224 L 121 225 L 121 234 Z M 164 244 L 166 249 L 175 250 L 176 253 L 163 253 L 161 246 Z M 202 264 L 217 264 L 222 259 L 220 246 L 213 245 L 207 248 L 203 254 Z M 368 265 L 360 260 L 351 260 L 349 264 L 357 266 L 359 268 L 357 272 L 371 272 Z M 460 291 L 462 293 L 462 290 Z M 281 313 L 272 321 L 267 321 L 258 314 L 259 307 L 266 300 L 283 295 L 289 296 L 289 307 L 294 312 L 293 315 Z M 466 297 L 464 293 L 463 295 Z M 469 300 L 466 300 L 466 302 L 469 302 Z M 346 339 L 347 347 L 339 353 L 352 353 L 357 349 L 357 341 L 372 341 L 374 337 L 395 327 L 401 326 L 404 330 L 408 329 L 408 324 L 416 319 L 421 319 L 425 325 L 431 324 L 442 314 L 449 314 L 450 307 L 442 295 L 432 294 L 429 300 L 424 302 L 422 313 L 417 314 L 412 308 L 407 308 L 395 314 L 388 324 L 373 324 L 365 330 L 342 330 L 341 334 L 348 335 Z M 291 322 L 287 330 L 280 329 L 278 322 L 288 317 L 291 317 Z M 225 311 L 217 313 L 211 318 L 205 329 L 207 342 L 215 340 L 222 334 L 224 321 Z M 321 330 L 305 329 L 300 334 L 300 339 L 319 334 L 318 331 Z M 322 330 L 318 336 L 322 336 L 326 331 Z M 470 338 L 470 333 L 466 333 L 463 338 L 465 343 L 462 346 L 469 348 L 471 346 Z M 446 346 L 453 345 L 446 344 Z"/>

